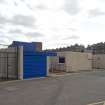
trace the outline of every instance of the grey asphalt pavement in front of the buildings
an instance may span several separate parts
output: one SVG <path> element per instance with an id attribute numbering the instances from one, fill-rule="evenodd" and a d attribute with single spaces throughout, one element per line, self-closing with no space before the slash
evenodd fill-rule
<path id="1" fill-rule="evenodd" d="M 100 101 L 105 101 L 105 71 L 0 84 L 0 105 L 88 105 Z"/>

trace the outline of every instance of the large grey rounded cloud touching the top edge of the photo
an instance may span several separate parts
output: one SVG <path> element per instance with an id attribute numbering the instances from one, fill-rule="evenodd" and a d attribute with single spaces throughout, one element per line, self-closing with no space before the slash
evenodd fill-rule
<path id="1" fill-rule="evenodd" d="M 64 10 L 71 15 L 79 13 L 78 0 L 65 0 Z"/>

